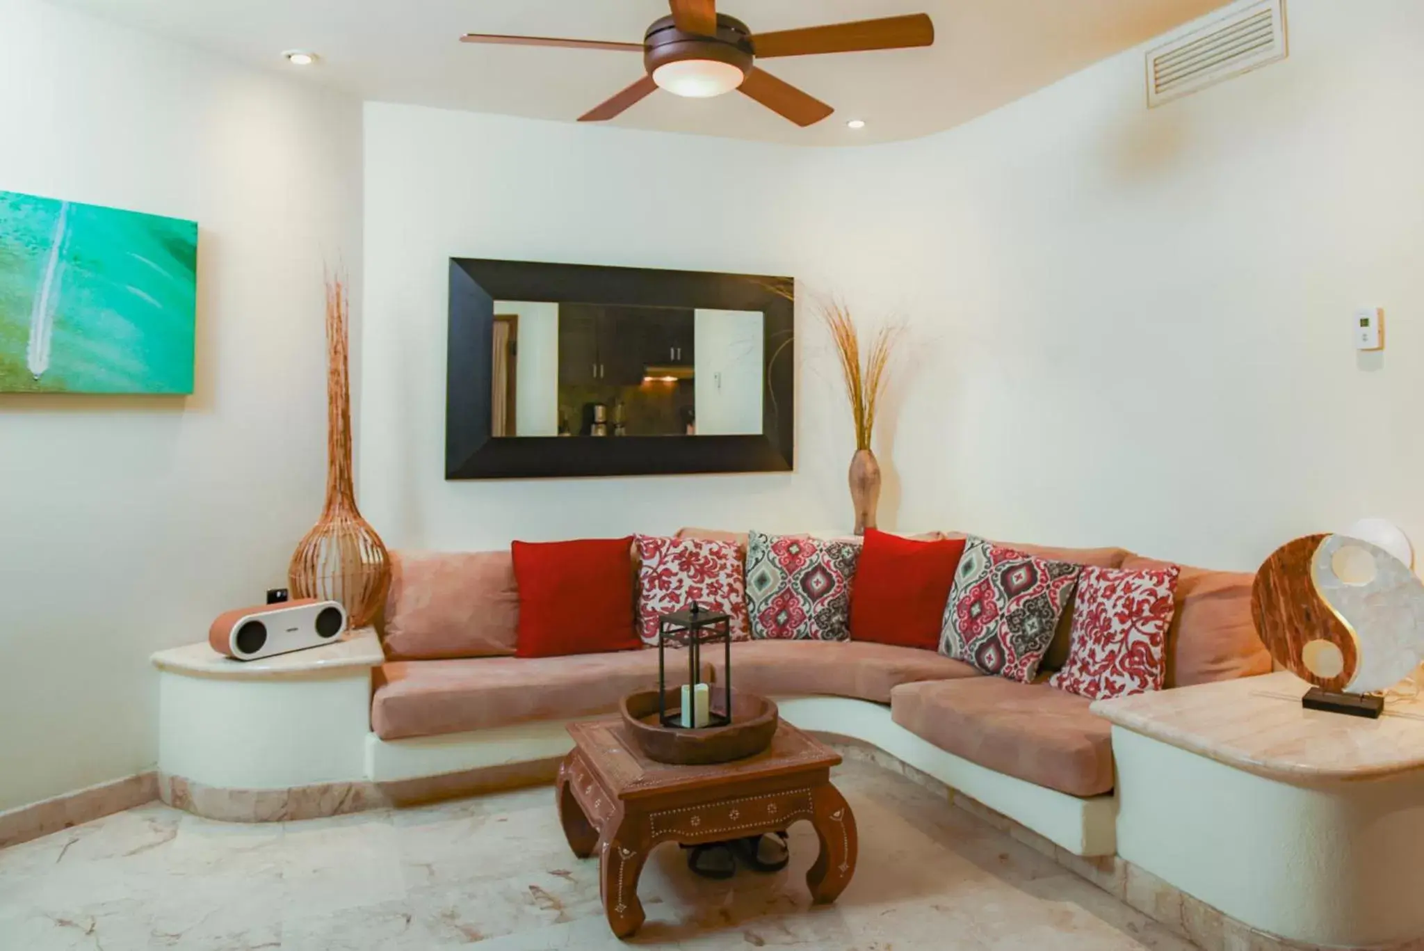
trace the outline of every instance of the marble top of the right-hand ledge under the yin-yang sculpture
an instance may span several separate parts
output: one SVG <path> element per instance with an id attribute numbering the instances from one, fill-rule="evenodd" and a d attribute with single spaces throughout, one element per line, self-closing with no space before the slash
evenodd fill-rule
<path id="1" fill-rule="evenodd" d="M 1309 684 L 1277 672 L 1098 700 L 1114 726 L 1296 786 L 1424 777 L 1424 699 L 1391 699 L 1378 720 L 1306 710 Z"/>

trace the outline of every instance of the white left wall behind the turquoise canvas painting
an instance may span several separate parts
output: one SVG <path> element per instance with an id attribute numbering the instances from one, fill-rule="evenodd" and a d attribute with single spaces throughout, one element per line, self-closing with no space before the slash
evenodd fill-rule
<path id="1" fill-rule="evenodd" d="M 0 396 L 3 810 L 151 768 L 148 654 L 283 582 L 362 198 L 352 101 L 34 0 L 0 23 L 0 188 L 201 227 L 192 398 Z"/>

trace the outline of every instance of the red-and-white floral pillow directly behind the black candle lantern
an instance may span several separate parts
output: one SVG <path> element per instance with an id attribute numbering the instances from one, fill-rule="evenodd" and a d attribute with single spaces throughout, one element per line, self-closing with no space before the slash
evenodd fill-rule
<path id="1" fill-rule="evenodd" d="M 658 615 L 671 615 L 696 602 L 706 610 L 732 616 L 732 640 L 750 637 L 746 583 L 736 542 L 668 539 L 639 535 L 638 636 L 658 644 Z"/>

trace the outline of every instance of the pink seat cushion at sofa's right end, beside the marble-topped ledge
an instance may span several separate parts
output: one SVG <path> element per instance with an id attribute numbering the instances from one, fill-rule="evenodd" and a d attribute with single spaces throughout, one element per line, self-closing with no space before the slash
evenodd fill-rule
<path id="1" fill-rule="evenodd" d="M 1112 791 L 1112 729 L 1091 703 L 1047 683 L 975 677 L 899 686 L 890 714 L 947 753 L 1088 797 Z"/>

